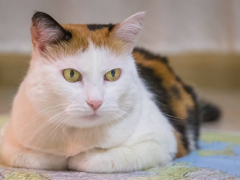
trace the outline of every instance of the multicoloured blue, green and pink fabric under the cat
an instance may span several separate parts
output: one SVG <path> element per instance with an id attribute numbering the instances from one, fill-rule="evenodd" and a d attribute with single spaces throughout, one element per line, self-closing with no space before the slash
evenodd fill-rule
<path id="1" fill-rule="evenodd" d="M 8 119 L 0 117 L 0 126 Z M 16 180 L 240 180 L 240 135 L 203 132 L 200 149 L 164 167 L 115 174 L 43 171 L 0 167 L 0 179 Z"/>

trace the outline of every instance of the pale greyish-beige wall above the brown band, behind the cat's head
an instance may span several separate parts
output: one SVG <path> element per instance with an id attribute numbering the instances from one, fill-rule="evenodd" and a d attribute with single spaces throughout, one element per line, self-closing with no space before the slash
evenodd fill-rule
<path id="1" fill-rule="evenodd" d="M 35 10 L 61 23 L 115 23 L 146 10 L 139 46 L 167 54 L 240 52 L 239 7 L 239 0 L 0 0 L 0 52 L 30 52 Z"/>

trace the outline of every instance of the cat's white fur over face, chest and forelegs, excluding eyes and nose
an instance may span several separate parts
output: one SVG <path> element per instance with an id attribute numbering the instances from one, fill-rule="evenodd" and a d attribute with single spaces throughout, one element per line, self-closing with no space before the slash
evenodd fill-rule
<path id="1" fill-rule="evenodd" d="M 66 68 L 82 74 L 70 83 Z M 120 68 L 117 81 L 104 80 Z M 93 116 L 88 99 L 103 104 Z M 173 128 L 138 77 L 131 54 L 117 56 L 91 42 L 83 53 L 47 60 L 34 51 L 2 135 L 9 166 L 86 172 L 129 172 L 170 162 Z"/>

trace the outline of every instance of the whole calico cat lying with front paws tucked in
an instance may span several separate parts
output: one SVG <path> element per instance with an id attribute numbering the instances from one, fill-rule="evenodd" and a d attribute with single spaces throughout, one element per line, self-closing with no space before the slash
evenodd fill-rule
<path id="1" fill-rule="evenodd" d="M 203 108 L 194 90 L 166 58 L 134 48 L 144 16 L 60 25 L 34 14 L 30 68 L 1 136 L 5 165 L 131 172 L 197 149 Z"/>

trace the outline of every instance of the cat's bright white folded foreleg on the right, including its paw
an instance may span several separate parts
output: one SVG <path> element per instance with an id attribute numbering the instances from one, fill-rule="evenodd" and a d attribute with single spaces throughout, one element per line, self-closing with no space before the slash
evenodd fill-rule
<path id="1" fill-rule="evenodd" d="M 130 172 L 166 164 L 174 155 L 156 142 L 142 142 L 131 147 L 96 148 L 80 153 L 69 158 L 68 168 L 96 173 Z"/>

